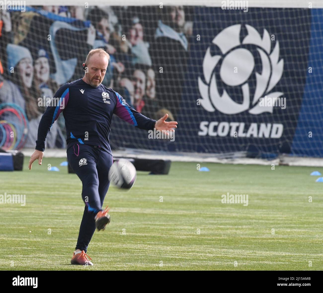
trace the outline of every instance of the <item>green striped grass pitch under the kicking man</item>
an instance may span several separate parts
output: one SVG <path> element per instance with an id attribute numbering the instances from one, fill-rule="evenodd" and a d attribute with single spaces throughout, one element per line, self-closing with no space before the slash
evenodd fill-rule
<path id="1" fill-rule="evenodd" d="M 138 172 L 129 192 L 110 186 L 111 223 L 88 247 L 94 266 L 72 266 L 84 203 L 65 160 L 29 171 L 26 157 L 22 172 L 0 173 L 0 194 L 26 194 L 25 206 L 0 204 L 1 270 L 323 269 L 323 183 L 309 175 L 318 168 L 201 163 L 210 172 L 199 172 L 198 162 Z M 248 194 L 248 206 L 223 204 L 227 192 Z"/>

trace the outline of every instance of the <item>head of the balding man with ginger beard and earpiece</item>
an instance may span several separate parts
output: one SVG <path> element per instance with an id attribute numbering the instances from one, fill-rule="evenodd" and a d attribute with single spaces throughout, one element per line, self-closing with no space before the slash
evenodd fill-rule
<path id="1" fill-rule="evenodd" d="M 90 86 L 97 88 L 103 81 L 109 61 L 106 56 L 94 54 L 89 64 L 83 63 L 86 66 L 86 71 L 83 80 Z"/>

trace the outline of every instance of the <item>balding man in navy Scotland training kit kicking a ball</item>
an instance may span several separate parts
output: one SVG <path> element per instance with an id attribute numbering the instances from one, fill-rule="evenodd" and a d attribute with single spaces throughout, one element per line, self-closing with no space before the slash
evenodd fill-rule
<path id="1" fill-rule="evenodd" d="M 176 121 L 166 122 L 168 114 L 156 121 L 138 113 L 117 92 L 101 84 L 109 58 L 105 50 L 92 49 L 83 63 L 84 77 L 57 90 L 54 97 L 59 97 L 59 104 L 48 106 L 43 114 L 38 126 L 36 150 L 29 161 L 29 170 L 37 159 L 41 165 L 47 134 L 63 112 L 68 163 L 82 181 L 82 199 L 85 203 L 71 260 L 71 264 L 75 265 L 93 265 L 86 254 L 89 242 L 95 229 L 104 230 L 110 221 L 109 209 L 102 210 L 102 205 L 108 192 L 108 173 L 113 163 L 109 143 L 112 115 L 116 114 L 145 130 L 174 131 L 177 127 Z"/>

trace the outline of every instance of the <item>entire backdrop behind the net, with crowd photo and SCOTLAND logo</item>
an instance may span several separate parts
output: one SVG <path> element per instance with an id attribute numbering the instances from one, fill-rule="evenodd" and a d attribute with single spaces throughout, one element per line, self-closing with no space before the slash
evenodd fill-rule
<path id="1" fill-rule="evenodd" d="M 103 48 L 104 86 L 149 118 L 179 123 L 171 141 L 150 139 L 114 115 L 112 149 L 322 157 L 322 24 L 314 8 L 1 9 L 0 148 L 35 148 L 48 99 Z M 65 148 L 65 132 L 60 115 L 46 149 Z"/>

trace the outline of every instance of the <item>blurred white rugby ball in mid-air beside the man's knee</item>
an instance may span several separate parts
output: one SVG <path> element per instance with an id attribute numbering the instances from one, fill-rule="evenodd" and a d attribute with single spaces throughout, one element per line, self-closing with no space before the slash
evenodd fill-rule
<path id="1" fill-rule="evenodd" d="M 130 189 L 137 178 L 135 166 L 126 159 L 115 161 L 109 170 L 109 181 L 119 188 Z"/>

